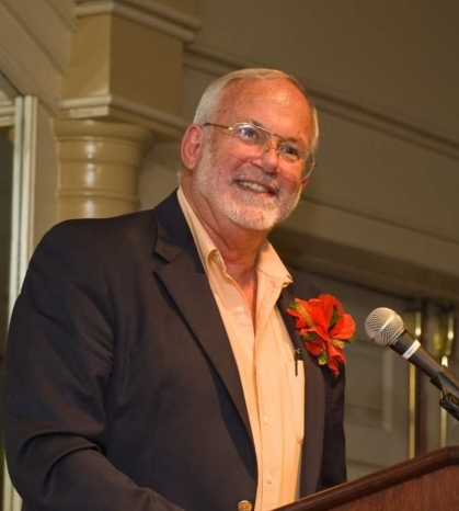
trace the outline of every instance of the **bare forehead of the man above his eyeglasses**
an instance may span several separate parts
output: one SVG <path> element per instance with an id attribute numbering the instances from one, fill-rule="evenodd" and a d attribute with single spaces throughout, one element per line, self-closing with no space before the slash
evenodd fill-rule
<path id="1" fill-rule="evenodd" d="M 254 121 L 285 136 L 309 141 L 312 114 L 300 90 L 288 80 L 252 80 L 234 82 L 223 91 L 218 121 L 232 124 Z"/>

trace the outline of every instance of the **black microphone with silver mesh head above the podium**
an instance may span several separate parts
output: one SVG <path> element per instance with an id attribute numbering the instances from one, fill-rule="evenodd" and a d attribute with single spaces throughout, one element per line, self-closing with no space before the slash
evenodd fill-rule
<path id="1" fill-rule="evenodd" d="M 421 345 L 394 310 L 387 307 L 375 309 L 365 321 L 365 330 L 372 342 L 389 347 L 426 374 L 441 390 L 441 407 L 459 420 L 459 378 Z"/>

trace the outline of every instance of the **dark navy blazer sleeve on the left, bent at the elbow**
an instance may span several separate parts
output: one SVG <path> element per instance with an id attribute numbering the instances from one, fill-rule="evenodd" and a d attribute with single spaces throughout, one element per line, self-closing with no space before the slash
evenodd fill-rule
<path id="1" fill-rule="evenodd" d="M 105 456 L 115 317 L 104 268 L 72 225 L 37 247 L 11 320 L 3 386 L 11 479 L 28 510 L 180 511 Z"/>

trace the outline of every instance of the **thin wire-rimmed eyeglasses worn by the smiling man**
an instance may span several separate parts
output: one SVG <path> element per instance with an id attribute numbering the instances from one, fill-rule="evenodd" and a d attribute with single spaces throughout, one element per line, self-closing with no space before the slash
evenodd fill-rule
<path id="1" fill-rule="evenodd" d="M 308 178 L 315 167 L 314 155 L 299 147 L 280 135 L 276 135 L 268 129 L 252 123 L 238 122 L 232 126 L 216 123 L 205 123 L 205 126 L 215 126 L 226 129 L 227 133 L 239 144 L 239 150 L 244 157 L 260 157 L 271 149 L 273 137 L 276 144 L 276 155 L 287 163 L 297 163 L 300 161 L 303 166 L 303 179 Z"/>

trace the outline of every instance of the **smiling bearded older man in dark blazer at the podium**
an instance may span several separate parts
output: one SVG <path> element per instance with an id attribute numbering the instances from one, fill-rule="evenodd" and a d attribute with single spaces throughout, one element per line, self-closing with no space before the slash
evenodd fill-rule
<path id="1" fill-rule="evenodd" d="M 301 86 L 214 82 L 159 206 L 39 243 L 10 329 L 4 431 L 25 510 L 271 510 L 345 480 L 344 372 L 286 309 L 317 293 L 268 232 L 313 168 Z"/>

